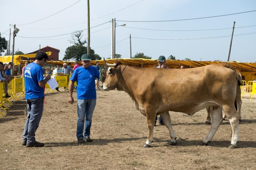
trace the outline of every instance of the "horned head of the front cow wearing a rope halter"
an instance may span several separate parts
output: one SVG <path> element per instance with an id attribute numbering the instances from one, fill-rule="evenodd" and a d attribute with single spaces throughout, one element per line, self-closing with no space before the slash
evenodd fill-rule
<path id="1" fill-rule="evenodd" d="M 108 71 L 106 72 L 106 79 L 103 83 L 103 90 L 109 91 L 117 88 L 118 90 L 123 90 L 120 86 L 120 76 L 121 76 L 121 66 L 123 65 L 120 61 L 115 61 L 114 64 L 108 64 L 105 59 L 104 62 L 109 66 Z M 119 83 L 118 83 L 119 81 Z M 117 84 L 118 83 L 118 84 Z"/>

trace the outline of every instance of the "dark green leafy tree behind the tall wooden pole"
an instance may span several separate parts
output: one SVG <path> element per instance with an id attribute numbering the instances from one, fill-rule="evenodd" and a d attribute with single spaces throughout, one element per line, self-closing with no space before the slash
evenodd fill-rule
<path id="1" fill-rule="evenodd" d="M 81 56 L 87 54 L 87 47 L 83 45 L 72 45 L 69 46 L 66 51 L 63 60 L 70 61 L 71 59 L 80 61 Z M 90 57 L 91 60 L 101 60 L 99 55 L 94 54 L 94 50 L 90 48 Z"/>

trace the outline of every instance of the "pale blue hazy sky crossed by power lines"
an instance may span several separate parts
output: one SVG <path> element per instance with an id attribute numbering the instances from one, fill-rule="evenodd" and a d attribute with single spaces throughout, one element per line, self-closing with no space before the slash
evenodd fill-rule
<path id="1" fill-rule="evenodd" d="M 51 46 L 60 50 L 59 59 L 65 55 L 65 50 L 71 46 L 68 39 L 71 34 L 49 37 L 49 38 L 23 38 L 24 37 L 45 37 L 71 33 L 77 30 L 87 29 L 87 0 L 67 1 L 1 1 L 0 11 L 0 32 L 1 36 L 9 40 L 9 24 L 16 24 L 20 29 L 15 38 L 15 51 L 30 53 L 41 47 Z M 210 30 L 210 31 L 154 31 L 156 30 L 204 30 L 222 29 L 235 27 L 245 27 L 256 25 L 256 11 L 244 14 L 214 17 L 206 19 L 169 21 L 169 22 L 124 22 L 124 21 L 162 21 L 211 17 L 218 15 L 233 14 L 245 11 L 256 10 L 256 1 L 189 1 L 189 0 L 94 0 L 90 1 L 90 27 L 110 21 L 116 18 L 117 25 L 126 24 L 126 27 L 116 28 L 116 54 L 121 54 L 122 58 L 130 58 L 130 39 L 132 39 L 132 56 L 137 52 L 142 52 L 152 59 L 157 59 L 160 55 L 166 58 L 170 55 L 176 59 L 183 60 L 190 58 L 196 61 L 227 61 L 230 46 L 232 29 Z M 75 5 L 67 8 L 68 6 Z M 135 4 L 136 3 L 136 4 Z M 134 4 L 134 5 L 133 5 Z M 130 6 L 132 5 L 132 6 Z M 128 7 L 130 6 L 130 7 Z M 10 11 L 12 7 L 12 11 Z M 125 8 L 127 7 L 127 8 Z M 67 9 L 65 9 L 67 8 Z M 125 9 L 123 9 L 125 8 Z M 63 10 L 65 9 L 65 10 Z M 122 9 L 122 10 L 121 10 Z M 61 11 L 63 10 L 63 11 Z M 120 11 L 118 11 L 120 10 Z M 56 12 L 56 15 L 48 17 Z M 118 11 L 118 12 L 115 12 Z M 113 13 L 113 14 L 111 14 Z M 109 15 L 110 14 L 110 15 Z M 104 17 L 103 17 L 104 16 Z M 101 17 L 101 18 L 99 18 Z M 99 19 L 96 19 L 99 18 Z M 40 20 L 34 22 L 36 20 Z M 31 24 L 26 24 L 34 22 Z M 83 24 L 78 24 L 82 23 Z M 21 25 L 25 24 L 25 25 Z M 74 25 L 78 24 L 78 25 Z M 74 25 L 74 26 L 70 26 Z M 69 26 L 69 27 L 67 27 Z M 64 28 L 59 28 L 64 27 Z M 110 28 L 108 28 L 110 27 Z M 129 28 L 134 27 L 134 28 Z M 51 29 L 58 28 L 58 29 Z M 135 29 L 143 28 L 143 29 Z M 104 30 L 102 30 L 104 29 Z M 8 30 L 8 31 L 7 31 Z M 102 31 L 99 31 L 102 30 Z M 7 35 L 2 34 L 5 31 Z M 12 28 L 13 31 L 13 28 Z M 94 31 L 98 31 L 92 33 Z M 253 33 L 249 35 L 234 36 L 231 48 L 230 61 L 255 62 L 256 50 L 256 26 L 235 28 L 234 35 Z M 87 30 L 83 32 L 87 34 Z M 149 40 L 152 39 L 189 39 L 229 36 L 213 39 L 195 40 Z M 136 38 L 135 38 L 136 37 Z M 65 39 L 60 39 L 65 38 Z M 84 35 L 87 38 L 87 35 Z M 127 39 L 125 39 L 127 38 Z M 41 40 L 38 40 L 41 39 Z M 43 39 L 43 40 L 42 40 Z M 58 39 L 58 40 L 52 40 Z M 125 39 L 125 40 L 124 40 Z M 123 40 L 123 41 L 121 41 Z M 121 41 L 121 42 L 119 42 Z M 12 37 L 11 37 L 12 44 Z M 111 23 L 106 23 L 95 28 L 91 28 L 90 46 L 96 54 L 102 58 L 111 56 Z M 103 46 L 103 47 L 102 47 Z M 12 50 L 12 48 L 11 48 Z"/>

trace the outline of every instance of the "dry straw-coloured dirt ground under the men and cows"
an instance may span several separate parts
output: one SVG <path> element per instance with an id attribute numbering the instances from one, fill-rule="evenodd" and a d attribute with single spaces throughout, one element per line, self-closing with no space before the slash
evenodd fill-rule
<path id="1" fill-rule="evenodd" d="M 169 112 L 178 144 L 169 146 L 165 126 L 154 128 L 154 143 L 143 148 L 147 137 L 146 117 L 136 110 L 123 91 L 97 91 L 91 138 L 77 143 L 76 93 L 46 94 L 44 113 L 36 131 L 41 148 L 22 146 L 26 101 L 13 106 L 0 119 L 0 169 L 256 169 L 256 98 L 242 101 L 237 149 L 231 141 L 229 121 L 223 121 L 209 146 L 199 146 L 209 132 L 207 112 L 193 116 Z"/>

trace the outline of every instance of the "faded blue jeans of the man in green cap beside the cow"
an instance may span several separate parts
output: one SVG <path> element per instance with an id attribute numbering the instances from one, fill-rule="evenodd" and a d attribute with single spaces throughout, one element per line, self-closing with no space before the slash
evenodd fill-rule
<path id="1" fill-rule="evenodd" d="M 77 139 L 90 137 L 92 114 L 96 105 L 96 99 L 77 99 Z M 85 123 L 84 123 L 85 118 Z M 85 126 L 85 128 L 84 128 Z M 83 132 L 84 129 L 84 132 Z"/>

